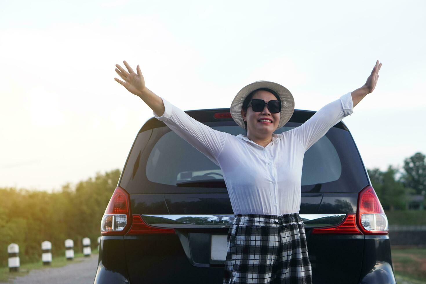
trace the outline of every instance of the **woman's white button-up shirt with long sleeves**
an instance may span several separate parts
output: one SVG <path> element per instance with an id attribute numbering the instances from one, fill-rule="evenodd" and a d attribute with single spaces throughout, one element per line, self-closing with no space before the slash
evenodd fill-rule
<path id="1" fill-rule="evenodd" d="M 353 113 L 351 92 L 323 106 L 302 125 L 272 134 L 260 146 L 245 135 L 210 128 L 164 98 L 163 121 L 223 171 L 234 214 L 299 213 L 305 152 L 325 133 Z"/>

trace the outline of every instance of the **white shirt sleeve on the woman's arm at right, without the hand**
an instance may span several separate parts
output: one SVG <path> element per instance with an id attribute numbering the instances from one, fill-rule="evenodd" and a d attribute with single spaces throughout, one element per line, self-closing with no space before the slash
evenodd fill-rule
<path id="1" fill-rule="evenodd" d="M 345 116 L 351 115 L 352 109 L 351 92 L 341 96 L 339 99 L 323 106 L 311 118 L 306 120 L 301 126 L 289 130 L 302 143 L 305 152 L 314 145 L 315 142 L 327 133 L 328 129 L 342 120 Z"/>

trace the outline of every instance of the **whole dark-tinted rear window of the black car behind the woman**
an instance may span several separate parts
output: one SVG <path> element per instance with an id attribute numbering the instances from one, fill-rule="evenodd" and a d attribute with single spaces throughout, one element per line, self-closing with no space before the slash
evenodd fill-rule
<path id="1" fill-rule="evenodd" d="M 206 125 L 232 135 L 245 135 L 234 122 Z M 288 122 L 276 130 L 280 134 L 301 125 Z M 120 186 L 129 193 L 196 192 L 206 186 L 178 186 L 188 181 L 212 180 L 221 185 L 219 166 L 180 138 L 167 126 L 140 132 L 131 149 Z M 360 156 L 348 131 L 332 127 L 305 153 L 302 192 L 359 192 L 368 184 Z M 209 190 L 214 189 L 209 186 Z"/>

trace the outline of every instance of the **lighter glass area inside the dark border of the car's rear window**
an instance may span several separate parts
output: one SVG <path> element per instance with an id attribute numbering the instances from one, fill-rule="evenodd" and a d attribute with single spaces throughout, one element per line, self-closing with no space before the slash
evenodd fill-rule
<path id="1" fill-rule="evenodd" d="M 212 128 L 235 136 L 245 135 L 244 129 L 239 126 Z M 284 126 L 274 133 L 280 134 L 293 128 Z M 158 128 L 153 131 L 164 130 Z M 341 172 L 339 155 L 331 141 L 323 136 L 305 153 L 302 185 L 335 181 Z M 147 160 L 146 175 L 149 181 L 168 185 L 185 181 L 223 180 L 223 172 L 219 166 L 173 131 L 165 133 L 153 146 Z"/>

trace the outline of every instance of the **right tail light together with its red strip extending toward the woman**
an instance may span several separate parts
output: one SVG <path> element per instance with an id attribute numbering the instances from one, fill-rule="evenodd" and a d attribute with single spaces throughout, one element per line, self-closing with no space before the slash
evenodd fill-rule
<path id="1" fill-rule="evenodd" d="M 371 186 L 358 194 L 357 214 L 347 214 L 342 223 L 334 227 L 312 229 L 312 234 L 364 234 L 387 235 L 388 218 Z"/>

